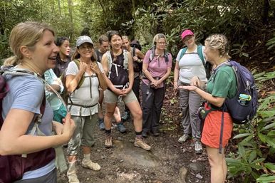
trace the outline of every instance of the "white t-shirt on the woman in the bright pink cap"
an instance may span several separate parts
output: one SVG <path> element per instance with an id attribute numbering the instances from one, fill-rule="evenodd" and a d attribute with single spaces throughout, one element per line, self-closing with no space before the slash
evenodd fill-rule
<path id="1" fill-rule="evenodd" d="M 202 46 L 202 53 L 204 51 L 204 46 Z M 180 66 L 180 81 L 183 83 L 189 83 L 194 76 L 198 76 L 199 80 L 207 82 L 205 68 L 203 66 L 202 60 L 197 54 L 197 49 L 192 53 L 185 53 L 182 58 L 180 58 L 181 51 L 177 53 L 177 62 Z M 204 56 L 205 57 L 205 56 Z M 205 61 L 205 58 L 204 58 Z"/>

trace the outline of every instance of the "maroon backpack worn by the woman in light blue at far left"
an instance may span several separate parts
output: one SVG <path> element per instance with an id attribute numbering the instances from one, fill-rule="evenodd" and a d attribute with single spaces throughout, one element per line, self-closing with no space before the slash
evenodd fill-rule
<path id="1" fill-rule="evenodd" d="M 21 75 L 34 75 L 34 73 L 24 70 L 9 71 L 9 68 L 1 68 L 0 70 L 0 129 L 3 125 L 4 119 L 2 117 L 2 101 L 6 94 L 9 92 L 9 85 L 6 83 L 4 74 L 21 76 Z M 34 126 L 38 126 L 37 122 L 41 120 L 41 117 L 46 108 L 46 96 L 44 95 L 40 111 L 41 115 L 36 118 Z M 24 172 L 28 172 L 34 169 L 45 166 L 48 162 L 51 162 L 55 158 L 56 154 L 53 148 L 41 150 L 39 152 L 33 152 L 28 155 L 0 155 L 0 183 L 14 182 L 21 179 Z"/>

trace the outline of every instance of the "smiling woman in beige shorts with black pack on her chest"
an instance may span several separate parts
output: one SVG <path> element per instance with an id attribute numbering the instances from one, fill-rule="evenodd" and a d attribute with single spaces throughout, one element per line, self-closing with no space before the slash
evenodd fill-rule
<path id="1" fill-rule="evenodd" d="M 147 145 L 142 136 L 142 111 L 140 104 L 133 93 L 134 71 L 132 56 L 128 51 L 123 50 L 122 38 L 118 31 L 110 31 L 108 33 L 110 42 L 110 51 L 107 51 L 102 58 L 103 69 L 106 74 L 108 89 L 104 91 L 105 99 L 105 147 L 113 146 L 111 137 L 111 117 L 118 105 L 118 100 L 123 100 L 125 105 L 130 109 L 133 115 L 135 127 L 135 142 L 136 147 L 141 147 L 144 150 L 150 150 L 150 145 Z"/>

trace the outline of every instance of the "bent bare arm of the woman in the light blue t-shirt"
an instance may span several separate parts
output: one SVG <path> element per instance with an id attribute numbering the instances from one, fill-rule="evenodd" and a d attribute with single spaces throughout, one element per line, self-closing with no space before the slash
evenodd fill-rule
<path id="1" fill-rule="evenodd" d="M 31 112 L 21 109 L 11 109 L 9 111 L 0 131 L 0 155 L 21 155 L 38 152 L 49 147 L 63 145 L 71 139 L 75 129 L 71 114 L 66 116 L 61 135 L 25 135 L 33 115 Z"/>

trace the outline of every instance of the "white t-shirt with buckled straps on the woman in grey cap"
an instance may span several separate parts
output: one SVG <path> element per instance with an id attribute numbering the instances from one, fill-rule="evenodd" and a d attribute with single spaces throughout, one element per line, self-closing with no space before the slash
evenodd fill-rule
<path id="1" fill-rule="evenodd" d="M 103 73 L 103 67 L 101 63 L 98 63 L 98 67 Z M 76 75 L 78 73 L 78 66 L 75 62 L 70 62 L 68 65 L 68 70 L 66 72 L 67 75 Z M 80 88 L 76 89 L 71 97 L 68 99 L 68 108 L 71 111 L 71 115 L 75 116 L 88 116 L 98 113 L 98 99 L 99 99 L 99 80 L 95 73 L 93 75 L 89 75 L 88 73 L 84 73 L 84 81 Z M 76 105 L 70 105 L 70 103 Z M 82 106 L 93 106 L 93 107 L 81 107 Z"/>

